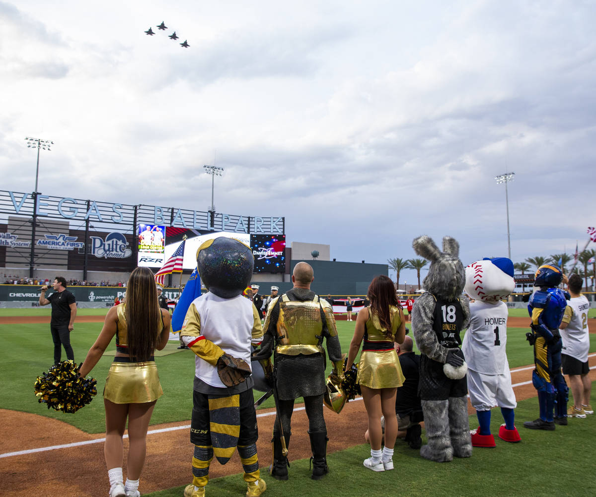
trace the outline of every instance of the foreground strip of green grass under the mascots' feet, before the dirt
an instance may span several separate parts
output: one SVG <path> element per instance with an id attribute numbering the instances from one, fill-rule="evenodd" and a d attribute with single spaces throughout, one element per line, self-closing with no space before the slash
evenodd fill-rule
<path id="1" fill-rule="evenodd" d="M 592 405 L 595 403 L 596 395 L 593 395 Z M 524 420 L 534 419 L 536 411 L 536 399 L 520 402 L 516 409 L 517 426 Z M 503 421 L 498 409 L 492 413 L 491 430 L 498 433 Z M 470 426 L 477 426 L 476 416 L 470 416 Z M 471 458 L 455 458 L 443 464 L 421 458 L 419 451 L 398 439 L 393 454 L 395 470 L 385 473 L 373 473 L 364 468 L 362 461 L 370 457 L 370 446 L 357 445 L 330 454 L 327 458 L 330 473 L 319 482 L 309 477 L 308 459 L 291 460 L 290 446 L 290 480 L 278 482 L 266 473 L 266 468 L 262 468 L 261 477 L 267 483 L 265 495 L 268 497 L 594 495 L 596 445 L 592 440 L 596 435 L 596 415 L 569 421 L 569 426 L 557 427 L 554 432 L 519 430 L 520 443 L 503 442 L 495 436 L 495 448 L 474 448 Z M 356 440 L 360 437 L 361 434 L 355 434 Z M 147 497 L 180 497 L 183 490 L 184 486 L 174 487 L 149 493 Z M 214 479 L 206 487 L 206 494 L 213 496 L 243 495 L 244 492 L 246 483 L 242 474 Z"/>

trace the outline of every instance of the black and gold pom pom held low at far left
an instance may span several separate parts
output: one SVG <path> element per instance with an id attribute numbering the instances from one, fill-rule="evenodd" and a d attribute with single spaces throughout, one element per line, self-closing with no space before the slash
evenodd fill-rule
<path id="1" fill-rule="evenodd" d="M 48 372 L 35 380 L 35 395 L 40 404 L 47 404 L 55 411 L 76 412 L 89 404 L 97 395 L 97 380 L 79 376 L 75 361 L 54 364 Z"/>

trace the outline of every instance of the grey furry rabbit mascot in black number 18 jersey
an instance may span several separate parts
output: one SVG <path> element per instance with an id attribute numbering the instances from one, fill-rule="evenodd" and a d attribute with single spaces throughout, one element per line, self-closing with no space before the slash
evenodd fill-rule
<path id="1" fill-rule="evenodd" d="M 420 349 L 420 399 L 427 445 L 420 455 L 438 462 L 470 457 L 467 382 L 460 332 L 468 326 L 470 309 L 460 299 L 465 271 L 459 243 L 443 238 L 443 251 L 428 236 L 414 239 L 414 251 L 430 261 L 423 293 L 412 308 L 412 330 Z"/>

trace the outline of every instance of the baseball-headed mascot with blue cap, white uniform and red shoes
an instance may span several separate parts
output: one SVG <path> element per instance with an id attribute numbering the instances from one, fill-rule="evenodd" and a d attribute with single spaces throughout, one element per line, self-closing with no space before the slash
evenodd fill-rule
<path id="1" fill-rule="evenodd" d="M 505 420 L 499 438 L 521 440 L 514 424 L 517 402 L 505 352 L 508 310 L 501 301 L 515 286 L 513 262 L 507 257 L 485 257 L 465 268 L 465 293 L 473 301 L 461 349 L 468 364 L 470 402 L 479 422 L 478 429 L 471 432 L 474 447 L 496 446 L 491 433 L 491 409 L 495 406 L 501 408 Z"/>

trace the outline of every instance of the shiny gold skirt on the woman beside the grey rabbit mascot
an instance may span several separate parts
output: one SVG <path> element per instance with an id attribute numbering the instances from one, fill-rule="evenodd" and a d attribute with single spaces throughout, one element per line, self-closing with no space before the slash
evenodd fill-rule
<path id="1" fill-rule="evenodd" d="M 356 383 L 369 388 L 396 388 L 405 377 L 399 365 L 398 354 L 390 351 L 362 351 L 358 363 Z"/>

